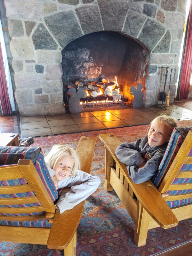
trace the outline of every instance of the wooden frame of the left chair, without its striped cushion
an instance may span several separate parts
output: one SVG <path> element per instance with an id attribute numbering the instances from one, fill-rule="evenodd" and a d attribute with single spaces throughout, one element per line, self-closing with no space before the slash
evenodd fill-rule
<path id="1" fill-rule="evenodd" d="M 96 137 L 81 137 L 76 148 L 81 168 L 90 172 L 96 144 Z M 26 179 L 27 184 L 0 186 L 0 195 L 33 191 L 35 196 L 0 199 L 0 220 L 32 221 L 48 220 L 51 227 L 14 227 L 1 226 L 0 241 L 14 243 L 46 244 L 47 248 L 64 250 L 65 256 L 76 255 L 76 229 L 84 209 L 84 201 L 72 210 L 60 214 L 37 174 L 31 160 L 19 160 L 18 164 L 0 166 L 0 180 Z M 39 202 L 39 206 L 12 207 L 3 205 L 30 204 Z M 44 214 L 30 216 L 7 216 L 2 214 L 27 214 L 30 212 L 44 212 Z"/>

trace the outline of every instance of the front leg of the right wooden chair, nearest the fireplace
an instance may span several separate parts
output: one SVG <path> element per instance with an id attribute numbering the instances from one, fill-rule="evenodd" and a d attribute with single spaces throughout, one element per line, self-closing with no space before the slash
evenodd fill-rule
<path id="1" fill-rule="evenodd" d="M 105 147 L 105 184 L 104 188 L 106 191 L 112 191 L 113 187 L 110 184 L 110 170 L 111 165 L 113 165 L 113 157 L 108 152 L 107 148 Z"/>

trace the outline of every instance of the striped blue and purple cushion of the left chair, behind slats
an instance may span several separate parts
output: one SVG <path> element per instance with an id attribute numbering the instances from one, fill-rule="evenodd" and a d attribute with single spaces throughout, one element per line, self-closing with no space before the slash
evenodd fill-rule
<path id="1" fill-rule="evenodd" d="M 31 160 L 36 168 L 37 173 L 39 174 L 41 180 L 44 183 L 44 186 L 49 193 L 52 201 L 55 202 L 58 198 L 58 192 L 52 182 L 51 176 L 48 172 L 46 164 L 44 162 L 44 155 L 41 148 L 31 147 L 0 147 L 0 165 L 9 165 L 17 164 L 19 159 L 28 159 Z M 21 185 L 27 184 L 27 181 L 22 179 L 17 180 L 1 180 L 0 186 L 11 186 L 11 185 Z M 26 193 L 17 193 L 17 194 L 3 194 L 0 195 L 0 198 L 14 198 L 14 197 L 25 197 L 25 196 L 34 196 L 34 192 Z M 0 207 L 30 207 L 30 206 L 41 205 L 40 203 L 33 204 L 18 204 L 18 205 L 0 205 Z M 0 215 L 13 215 L 13 216 L 28 216 L 28 215 L 37 215 L 43 214 L 44 212 L 31 212 L 27 214 L 6 214 L 0 213 Z M 1 218 L 0 218 L 1 219 Z M 25 226 L 25 227 L 50 227 L 51 224 L 48 220 L 39 220 L 39 221 L 6 221 L 0 220 L 1 225 L 12 225 L 12 226 Z"/>

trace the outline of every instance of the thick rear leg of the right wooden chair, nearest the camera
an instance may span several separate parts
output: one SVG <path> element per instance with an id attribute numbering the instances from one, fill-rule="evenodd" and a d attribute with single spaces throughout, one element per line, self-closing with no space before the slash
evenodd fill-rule
<path id="1" fill-rule="evenodd" d="M 134 242 L 140 247 L 146 244 L 150 215 L 138 202 L 138 222 L 135 225 Z"/>

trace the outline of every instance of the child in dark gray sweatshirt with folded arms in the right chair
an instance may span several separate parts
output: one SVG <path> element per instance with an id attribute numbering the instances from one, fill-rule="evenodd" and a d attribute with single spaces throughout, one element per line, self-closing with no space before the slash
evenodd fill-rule
<path id="1" fill-rule="evenodd" d="M 175 119 L 160 115 L 150 124 L 148 135 L 135 142 L 119 145 L 116 156 L 126 164 L 129 177 L 134 183 L 142 183 L 154 177 L 164 156 Z"/>

